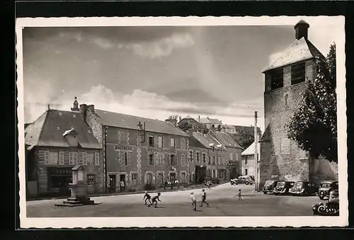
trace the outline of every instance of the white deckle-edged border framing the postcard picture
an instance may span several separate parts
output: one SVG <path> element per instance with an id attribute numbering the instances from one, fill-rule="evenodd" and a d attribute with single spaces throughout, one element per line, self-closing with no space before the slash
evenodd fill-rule
<path id="1" fill-rule="evenodd" d="M 21 228 L 86 228 L 86 227 L 343 227 L 348 225 L 348 164 L 346 134 L 346 66 L 344 16 L 261 16 L 261 17 L 115 17 L 115 18 L 18 18 L 17 91 L 18 136 L 24 136 L 22 28 L 72 26 L 157 26 L 157 25 L 294 25 L 300 19 L 331 19 L 343 35 L 336 38 L 338 94 L 338 181 L 340 190 L 339 217 L 26 217 L 24 138 L 18 139 L 20 220 Z M 260 70 L 261 71 L 261 70 Z"/>

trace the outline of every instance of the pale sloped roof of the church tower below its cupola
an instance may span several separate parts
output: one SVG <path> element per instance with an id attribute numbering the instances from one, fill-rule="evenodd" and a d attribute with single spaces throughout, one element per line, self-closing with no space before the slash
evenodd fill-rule
<path id="1" fill-rule="evenodd" d="M 268 72 L 271 69 L 277 69 L 278 67 L 284 67 L 295 62 L 301 62 L 314 57 L 320 57 L 324 59 L 324 55 L 317 50 L 317 48 L 305 38 L 295 40 L 287 49 L 282 52 L 282 55 L 275 59 L 275 61 L 267 67 L 264 72 Z"/>

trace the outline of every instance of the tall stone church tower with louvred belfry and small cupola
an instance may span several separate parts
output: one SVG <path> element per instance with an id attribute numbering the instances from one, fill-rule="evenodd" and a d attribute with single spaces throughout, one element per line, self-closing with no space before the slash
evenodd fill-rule
<path id="1" fill-rule="evenodd" d="M 295 41 L 263 72 L 265 132 L 260 141 L 261 186 L 271 178 L 316 182 L 329 180 L 327 176 L 321 176 L 326 179 L 316 177 L 323 167 L 315 164 L 307 152 L 288 139 L 285 129 L 301 102 L 305 81 L 314 81 L 316 77 L 315 57 L 325 59 L 307 38 L 308 28 L 308 23 L 299 21 L 295 25 Z M 331 175 L 331 171 L 327 175 Z"/>

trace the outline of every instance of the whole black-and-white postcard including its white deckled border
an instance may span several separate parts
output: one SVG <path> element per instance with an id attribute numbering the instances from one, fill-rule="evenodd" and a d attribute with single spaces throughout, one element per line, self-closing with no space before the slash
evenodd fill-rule
<path id="1" fill-rule="evenodd" d="M 21 227 L 348 224 L 343 16 L 18 18 Z"/>

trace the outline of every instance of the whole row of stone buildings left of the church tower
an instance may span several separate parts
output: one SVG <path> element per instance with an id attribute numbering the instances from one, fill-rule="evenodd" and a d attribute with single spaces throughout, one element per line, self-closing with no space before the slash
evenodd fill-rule
<path id="1" fill-rule="evenodd" d="M 86 169 L 89 193 L 147 185 L 201 183 L 205 176 L 241 175 L 242 147 L 214 127 L 182 131 L 176 122 L 140 118 L 79 105 L 48 109 L 25 126 L 28 197 L 67 195 L 71 169 Z"/>

